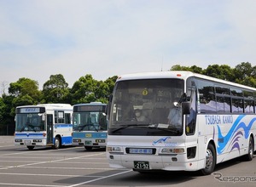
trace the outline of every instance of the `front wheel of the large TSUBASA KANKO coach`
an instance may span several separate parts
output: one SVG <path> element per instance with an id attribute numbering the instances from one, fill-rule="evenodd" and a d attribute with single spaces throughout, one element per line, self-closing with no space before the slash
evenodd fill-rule
<path id="1" fill-rule="evenodd" d="M 206 156 L 206 167 L 201 170 L 203 175 L 211 174 L 216 165 L 216 154 L 215 149 L 212 144 L 208 144 L 207 156 Z"/>

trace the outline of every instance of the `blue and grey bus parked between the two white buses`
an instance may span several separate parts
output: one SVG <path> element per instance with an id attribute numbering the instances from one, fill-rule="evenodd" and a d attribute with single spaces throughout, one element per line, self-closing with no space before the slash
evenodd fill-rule
<path id="1" fill-rule="evenodd" d="M 84 146 L 86 150 L 106 147 L 106 105 L 101 102 L 73 105 L 73 145 Z"/>

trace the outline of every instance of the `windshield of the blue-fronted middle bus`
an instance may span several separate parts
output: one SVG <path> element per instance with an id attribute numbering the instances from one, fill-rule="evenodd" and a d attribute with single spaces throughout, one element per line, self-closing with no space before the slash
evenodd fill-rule
<path id="1" fill-rule="evenodd" d="M 102 111 L 80 111 L 73 113 L 74 131 L 106 131 L 108 123 Z"/>

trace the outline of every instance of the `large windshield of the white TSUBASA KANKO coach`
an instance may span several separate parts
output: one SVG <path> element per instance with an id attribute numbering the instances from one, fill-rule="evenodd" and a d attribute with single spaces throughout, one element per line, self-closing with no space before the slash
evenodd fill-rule
<path id="1" fill-rule="evenodd" d="M 108 134 L 162 136 L 183 134 L 181 79 L 116 82 Z"/>

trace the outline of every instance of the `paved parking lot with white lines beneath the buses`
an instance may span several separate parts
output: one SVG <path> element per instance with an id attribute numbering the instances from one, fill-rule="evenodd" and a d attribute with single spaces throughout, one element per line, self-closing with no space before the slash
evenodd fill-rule
<path id="1" fill-rule="evenodd" d="M 108 166 L 104 149 L 87 151 L 84 147 L 59 150 L 27 150 L 13 144 L 13 137 L 0 136 L 0 186 L 255 186 L 256 158 L 236 159 L 216 167 L 212 175 L 172 172 L 140 174 Z M 216 175 L 218 174 L 218 178 Z M 220 181 L 236 178 L 239 181 Z M 246 178 L 246 180 L 245 180 Z"/>

